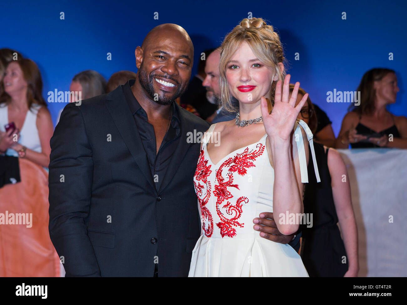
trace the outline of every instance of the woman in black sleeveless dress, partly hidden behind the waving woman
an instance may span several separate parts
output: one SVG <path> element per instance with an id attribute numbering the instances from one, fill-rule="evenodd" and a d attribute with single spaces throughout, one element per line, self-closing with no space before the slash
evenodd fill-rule
<path id="1" fill-rule="evenodd" d="M 293 85 L 290 85 L 290 92 L 292 89 Z M 298 90 L 297 103 L 305 94 L 303 89 Z M 317 118 L 313 110 L 308 97 L 298 118 L 314 133 Z M 321 182 L 317 183 L 312 174 L 314 165 L 310 158 L 309 183 L 305 187 L 303 202 L 304 213 L 312 214 L 313 218 L 312 227 L 301 226 L 302 261 L 310 277 L 357 277 L 357 229 L 345 163 L 333 148 L 314 142 L 314 149 Z"/>

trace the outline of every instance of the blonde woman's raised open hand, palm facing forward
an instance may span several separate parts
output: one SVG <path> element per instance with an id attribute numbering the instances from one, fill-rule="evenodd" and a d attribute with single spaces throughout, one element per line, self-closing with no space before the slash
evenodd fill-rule
<path id="1" fill-rule="evenodd" d="M 274 95 L 273 111 L 269 114 L 267 100 L 264 96 L 261 97 L 261 113 L 263 115 L 263 124 L 267 135 L 272 141 L 288 141 L 293 131 L 295 120 L 304 106 L 308 93 L 304 95 L 301 101 L 295 107 L 297 101 L 298 88 L 300 83 L 295 83 L 293 93 L 290 95 L 290 74 L 284 79 L 284 85 L 281 93 L 281 81 L 277 82 L 276 93 Z"/>

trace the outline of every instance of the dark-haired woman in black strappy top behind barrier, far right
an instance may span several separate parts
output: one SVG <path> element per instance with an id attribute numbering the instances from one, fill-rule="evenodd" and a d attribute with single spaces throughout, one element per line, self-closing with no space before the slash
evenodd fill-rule
<path id="1" fill-rule="evenodd" d="M 336 148 L 407 148 L 407 118 L 387 111 L 396 102 L 397 76 L 393 70 L 366 72 L 357 88 L 360 105 L 351 105 L 342 121 Z"/>

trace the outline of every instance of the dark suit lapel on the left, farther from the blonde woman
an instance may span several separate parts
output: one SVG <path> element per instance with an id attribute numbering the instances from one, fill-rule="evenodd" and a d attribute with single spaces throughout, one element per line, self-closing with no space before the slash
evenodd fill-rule
<path id="1" fill-rule="evenodd" d="M 134 122 L 130 107 L 120 86 L 112 91 L 112 94 L 108 95 L 106 107 L 138 167 L 155 190 L 153 176 L 151 175 L 146 151 L 141 142 L 140 133 L 138 133 L 136 122 Z"/>

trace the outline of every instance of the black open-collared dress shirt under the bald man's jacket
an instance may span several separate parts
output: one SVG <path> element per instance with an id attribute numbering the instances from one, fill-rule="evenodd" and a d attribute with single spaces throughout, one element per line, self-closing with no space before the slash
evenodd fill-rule
<path id="1" fill-rule="evenodd" d="M 138 132 L 140 133 L 140 138 L 144 146 L 144 150 L 147 153 L 147 158 L 149 160 L 151 175 L 154 179 L 154 184 L 156 190 L 160 190 L 160 185 L 162 179 L 164 178 L 166 169 L 168 168 L 171 158 L 173 157 L 173 152 L 178 145 L 181 130 L 179 113 L 177 107 L 174 103 L 171 104 L 172 117 L 171 124 L 166 132 L 164 139 L 162 140 L 160 149 L 157 153 L 157 145 L 155 142 L 154 127 L 147 120 L 146 111 L 140 106 L 137 99 L 134 97 L 131 91 L 131 86 L 134 85 L 135 79 L 129 80 L 124 85 L 121 85 L 123 92 L 126 96 L 126 100 L 129 103 L 131 113 L 133 114 L 134 121 Z M 169 119 L 169 117 L 168 117 Z"/>

